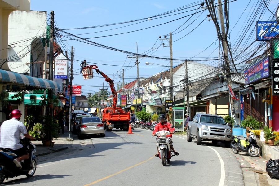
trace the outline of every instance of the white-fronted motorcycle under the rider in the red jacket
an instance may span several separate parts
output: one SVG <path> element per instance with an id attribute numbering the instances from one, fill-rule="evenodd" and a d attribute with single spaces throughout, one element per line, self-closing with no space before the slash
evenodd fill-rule
<path id="1" fill-rule="evenodd" d="M 172 154 L 173 152 L 170 149 L 172 139 L 170 137 L 166 137 L 166 135 L 170 135 L 170 131 L 158 131 L 155 133 L 155 136 L 158 137 L 156 140 L 157 148 L 159 150 L 159 158 L 162 160 L 163 166 L 166 166 L 166 161 L 169 163 L 170 158 L 175 156 L 175 154 Z"/>

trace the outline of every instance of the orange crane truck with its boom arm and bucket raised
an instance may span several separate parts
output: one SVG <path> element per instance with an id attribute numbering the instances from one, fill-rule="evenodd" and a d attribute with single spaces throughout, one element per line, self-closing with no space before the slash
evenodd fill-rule
<path id="1" fill-rule="evenodd" d="M 88 68 L 88 67 L 87 67 Z M 112 95 L 113 95 L 113 104 L 112 107 L 105 107 L 102 114 L 102 122 L 104 123 L 106 131 L 112 131 L 113 128 L 121 129 L 123 131 L 129 130 L 129 121 L 130 121 L 130 112 L 125 112 L 121 107 L 117 107 L 117 92 L 114 87 L 113 80 L 109 78 L 106 74 L 98 69 L 98 66 L 91 65 L 89 69 L 94 69 L 97 74 L 101 74 L 105 81 L 109 83 Z M 83 77 L 86 75 L 86 68 L 83 70 Z"/>

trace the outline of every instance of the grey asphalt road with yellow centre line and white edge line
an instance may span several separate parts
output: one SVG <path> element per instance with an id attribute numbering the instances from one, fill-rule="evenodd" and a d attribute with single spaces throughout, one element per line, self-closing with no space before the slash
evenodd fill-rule
<path id="1" fill-rule="evenodd" d="M 20 185 L 245 185 L 237 158 L 221 143 L 197 146 L 185 136 L 173 137 L 179 156 L 166 167 L 157 153 L 152 131 L 135 129 L 106 132 L 105 138 L 87 138 L 58 153 L 38 157 L 36 173 L 31 178 L 20 176 L 4 184 Z"/>

